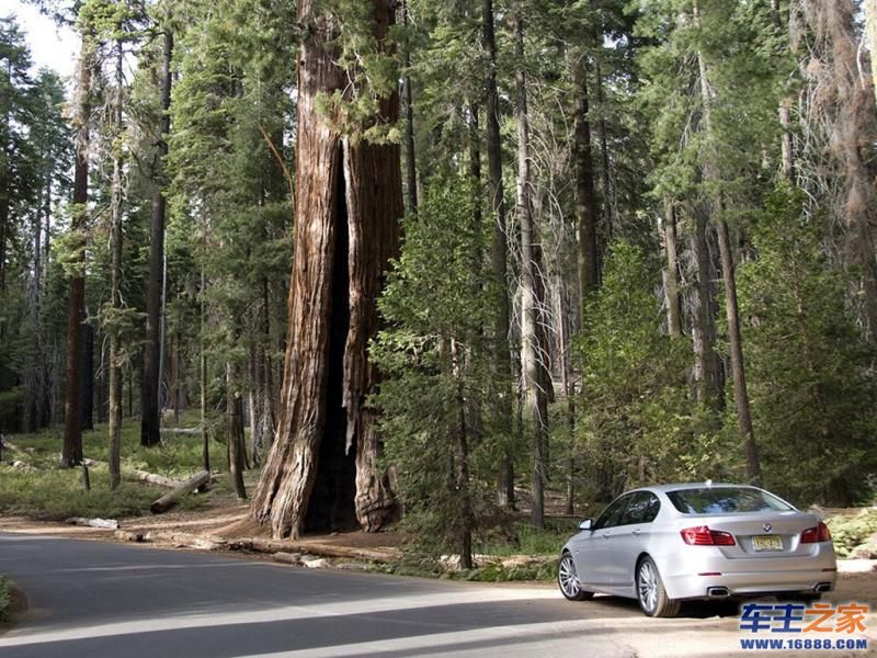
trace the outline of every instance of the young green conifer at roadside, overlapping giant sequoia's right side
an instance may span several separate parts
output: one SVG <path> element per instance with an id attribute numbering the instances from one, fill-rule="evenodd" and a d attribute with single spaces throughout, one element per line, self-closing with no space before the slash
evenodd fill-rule
<path id="1" fill-rule="evenodd" d="M 429 555 L 460 553 L 467 533 L 491 525 L 498 455 L 486 412 L 499 387 L 483 332 L 496 308 L 481 264 L 489 234 L 474 222 L 468 182 L 437 179 L 420 219 L 406 223 L 379 302 L 389 326 L 371 348 L 386 374 L 373 400 L 386 458 L 398 473 L 405 523 Z"/>

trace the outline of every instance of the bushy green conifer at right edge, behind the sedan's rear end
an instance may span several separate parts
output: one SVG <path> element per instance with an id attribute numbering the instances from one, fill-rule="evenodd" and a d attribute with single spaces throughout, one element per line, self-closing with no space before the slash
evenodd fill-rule
<path id="1" fill-rule="evenodd" d="M 739 269 L 755 436 L 768 488 L 804 504 L 850 504 L 877 468 L 877 381 L 804 197 L 767 197 Z"/>

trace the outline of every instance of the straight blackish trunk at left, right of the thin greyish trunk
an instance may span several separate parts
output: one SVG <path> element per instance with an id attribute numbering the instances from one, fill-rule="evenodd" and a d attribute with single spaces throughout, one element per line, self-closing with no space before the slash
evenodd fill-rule
<path id="1" fill-rule="evenodd" d="M 156 163 L 152 195 L 152 223 L 149 242 L 149 279 L 146 296 L 146 342 L 144 344 L 144 370 L 140 379 L 140 444 L 158 445 L 161 441 L 161 419 L 159 413 L 159 381 L 161 356 L 161 297 L 164 287 L 164 181 L 163 158 L 168 155 L 168 135 L 171 118 L 171 57 L 173 54 L 173 35 L 164 32 L 164 53 L 161 65 L 161 137 L 158 143 L 158 160 Z"/>

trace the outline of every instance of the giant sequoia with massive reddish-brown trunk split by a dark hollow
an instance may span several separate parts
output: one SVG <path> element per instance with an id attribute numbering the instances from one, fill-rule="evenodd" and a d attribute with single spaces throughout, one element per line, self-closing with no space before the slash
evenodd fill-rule
<path id="1" fill-rule="evenodd" d="M 307 36 L 298 57 L 289 333 L 277 436 L 251 508 L 275 537 L 354 523 L 375 531 L 398 511 L 366 405 L 377 383 L 366 345 L 402 215 L 399 148 L 379 137 L 398 116 L 395 76 L 384 84 L 368 76 L 369 65 L 390 61 L 394 11 L 373 0 L 346 12 L 298 0 Z"/>

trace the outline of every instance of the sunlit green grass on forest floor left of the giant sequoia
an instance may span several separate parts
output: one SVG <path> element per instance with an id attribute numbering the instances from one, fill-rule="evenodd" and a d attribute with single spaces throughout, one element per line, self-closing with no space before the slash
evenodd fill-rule
<path id="1" fill-rule="evenodd" d="M 106 467 L 92 467 L 91 490 L 82 487 L 81 468 L 60 468 L 61 429 L 52 428 L 36 434 L 16 434 L 10 438 L 25 453 L 4 453 L 3 460 L 19 460 L 29 468 L 0 465 L 0 513 L 20 514 L 35 519 L 59 521 L 69 517 L 101 517 L 117 519 L 146 514 L 149 504 L 161 496 L 162 489 L 140 483 L 126 481 L 124 472 L 138 468 L 168 477 L 184 478 L 201 469 L 201 439 L 186 434 L 167 434 L 161 445 L 146 449 L 140 445 L 140 426 L 137 419 L 125 419 L 122 426 L 123 483 L 116 491 L 110 490 Z M 106 424 L 95 426 L 82 434 L 87 457 L 105 462 L 109 455 Z M 219 463 L 225 461 L 225 446 L 212 443 Z M 217 487 L 224 491 L 223 484 Z M 207 500 L 205 496 L 186 496 L 180 501 L 182 509 L 196 508 Z"/>

